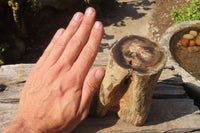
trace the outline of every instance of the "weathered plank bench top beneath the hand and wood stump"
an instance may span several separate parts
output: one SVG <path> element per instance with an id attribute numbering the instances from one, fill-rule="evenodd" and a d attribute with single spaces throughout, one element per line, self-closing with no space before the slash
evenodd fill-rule
<path id="1" fill-rule="evenodd" d="M 106 59 L 105 59 L 106 60 Z M 96 61 L 96 66 L 106 66 L 106 61 Z M 24 82 L 34 64 L 8 65 L 0 68 L 0 132 L 14 118 Z M 164 69 L 154 96 L 184 94 L 180 76 L 171 69 Z M 77 132 L 161 132 L 199 130 L 200 112 L 188 97 L 154 98 L 147 122 L 142 127 L 121 122 L 118 117 L 88 118 L 81 123 Z M 178 129 L 178 130 L 176 130 Z"/>

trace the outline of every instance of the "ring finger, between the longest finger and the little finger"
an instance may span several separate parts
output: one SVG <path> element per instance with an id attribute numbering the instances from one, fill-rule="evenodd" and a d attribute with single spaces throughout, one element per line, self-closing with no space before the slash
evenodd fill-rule
<path id="1" fill-rule="evenodd" d="M 55 45 L 53 46 L 53 49 L 51 50 L 51 53 L 49 54 L 46 60 L 46 63 L 45 63 L 46 66 L 52 66 L 57 62 L 57 60 L 62 55 L 64 49 L 66 48 L 67 43 L 79 29 L 82 19 L 83 19 L 83 14 L 80 12 L 76 13 L 73 16 L 65 32 L 62 34 L 62 36 L 59 38 L 59 40 L 56 41 Z"/>

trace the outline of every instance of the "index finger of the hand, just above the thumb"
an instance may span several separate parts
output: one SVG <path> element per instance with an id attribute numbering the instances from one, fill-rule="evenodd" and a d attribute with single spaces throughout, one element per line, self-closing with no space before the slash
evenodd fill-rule
<path id="1" fill-rule="evenodd" d="M 97 55 L 103 35 L 103 24 L 96 22 L 92 28 L 89 40 L 81 51 L 76 62 L 72 66 L 72 71 L 76 71 L 80 77 L 85 78 Z"/>

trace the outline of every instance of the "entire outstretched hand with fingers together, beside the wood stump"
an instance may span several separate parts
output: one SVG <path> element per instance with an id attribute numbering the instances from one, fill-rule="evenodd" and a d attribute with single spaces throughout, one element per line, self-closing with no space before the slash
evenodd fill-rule
<path id="1" fill-rule="evenodd" d="M 103 34 L 96 12 L 76 13 L 59 29 L 23 88 L 16 118 L 4 133 L 71 132 L 88 114 L 105 70 L 90 70 Z"/>

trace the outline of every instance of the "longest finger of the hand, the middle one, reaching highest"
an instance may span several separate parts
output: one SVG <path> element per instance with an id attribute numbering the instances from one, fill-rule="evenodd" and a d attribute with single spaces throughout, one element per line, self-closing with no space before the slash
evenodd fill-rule
<path id="1" fill-rule="evenodd" d="M 73 65 L 74 61 L 76 60 L 80 51 L 88 40 L 91 29 L 94 25 L 95 17 L 95 10 L 93 8 L 88 8 L 85 12 L 83 21 L 79 29 L 69 41 L 66 49 L 64 50 L 62 56 L 58 61 L 58 64 L 65 66 Z"/>

